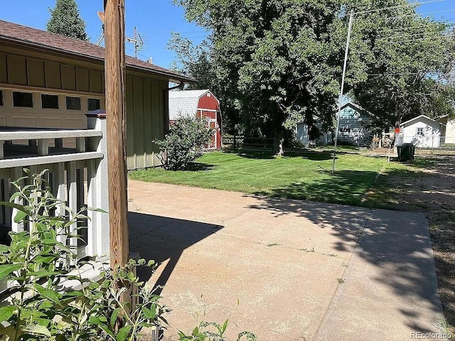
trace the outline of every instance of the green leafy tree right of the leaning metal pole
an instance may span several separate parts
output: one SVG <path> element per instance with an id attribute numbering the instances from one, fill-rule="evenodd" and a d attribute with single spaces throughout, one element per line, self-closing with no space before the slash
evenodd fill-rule
<path id="1" fill-rule="evenodd" d="M 454 112 L 454 38 L 449 25 L 418 16 L 405 0 L 355 21 L 348 85 L 382 128 Z M 365 9 L 357 8 L 356 11 Z"/>

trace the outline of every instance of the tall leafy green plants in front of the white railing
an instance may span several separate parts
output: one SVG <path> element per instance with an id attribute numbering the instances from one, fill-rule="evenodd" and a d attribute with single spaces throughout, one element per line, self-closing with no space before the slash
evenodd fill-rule
<path id="1" fill-rule="evenodd" d="M 154 269 L 154 261 L 130 260 L 123 268 L 102 271 L 100 281 L 82 278 L 84 264 L 60 240 L 77 237 L 70 228 L 87 218 L 86 209 L 73 213 L 53 197 L 43 180 L 45 171 L 25 171 L 28 176 L 13 183 L 16 193 L 10 202 L 1 202 L 14 207 L 14 221 L 27 228 L 10 232 L 11 244 L 0 245 L 0 281 L 14 283 L 9 304 L 0 306 L 0 321 L 9 323 L 0 326 L 0 340 L 132 341 L 143 328 L 166 323 L 160 297 L 134 274 L 138 265 Z M 62 209 L 66 214 L 55 216 Z M 95 262 L 85 266 L 90 264 Z M 73 285 L 65 286 L 65 281 Z M 137 290 L 129 291 L 133 286 Z M 131 298 L 137 301 L 134 306 Z"/>

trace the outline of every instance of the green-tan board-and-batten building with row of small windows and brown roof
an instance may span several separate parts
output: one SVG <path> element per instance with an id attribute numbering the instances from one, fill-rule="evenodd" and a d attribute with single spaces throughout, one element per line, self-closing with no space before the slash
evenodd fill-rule
<path id="1" fill-rule="evenodd" d="M 104 56 L 92 43 L 0 21 L 0 126 L 85 129 L 85 114 L 105 109 Z M 168 129 L 168 84 L 193 79 L 129 56 L 126 64 L 127 167 L 158 166 L 152 140 Z"/>

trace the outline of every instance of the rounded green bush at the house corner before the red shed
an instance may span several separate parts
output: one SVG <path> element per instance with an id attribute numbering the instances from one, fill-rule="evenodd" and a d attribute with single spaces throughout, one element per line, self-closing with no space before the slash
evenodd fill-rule
<path id="1" fill-rule="evenodd" d="M 207 126 L 205 119 L 178 117 L 166 134 L 164 140 L 154 140 L 161 150 L 164 168 L 183 171 L 203 154 L 214 131 Z"/>

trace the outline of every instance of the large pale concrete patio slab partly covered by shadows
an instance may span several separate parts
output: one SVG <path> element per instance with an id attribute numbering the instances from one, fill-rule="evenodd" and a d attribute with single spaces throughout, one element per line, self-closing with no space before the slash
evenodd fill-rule
<path id="1" fill-rule="evenodd" d="M 200 320 L 258 340 L 441 339 L 419 213 L 129 180 L 131 251 L 154 259 L 165 340 Z M 444 336 L 444 335 L 443 335 Z"/>

